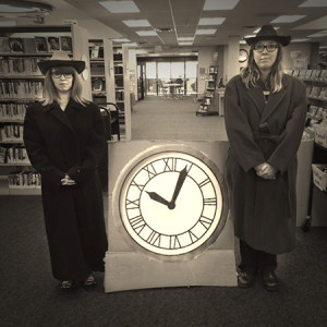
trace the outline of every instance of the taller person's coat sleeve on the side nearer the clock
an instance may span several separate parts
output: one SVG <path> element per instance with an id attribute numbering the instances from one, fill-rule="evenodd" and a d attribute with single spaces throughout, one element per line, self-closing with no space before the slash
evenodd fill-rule
<path id="1" fill-rule="evenodd" d="M 239 105 L 235 78 L 226 86 L 225 124 L 231 154 L 244 171 L 266 161 L 261 148 L 254 142 L 247 118 Z"/>

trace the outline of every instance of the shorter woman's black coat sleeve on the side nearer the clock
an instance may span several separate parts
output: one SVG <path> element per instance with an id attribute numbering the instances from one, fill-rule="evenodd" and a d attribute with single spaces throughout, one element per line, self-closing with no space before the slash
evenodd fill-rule
<path id="1" fill-rule="evenodd" d="M 70 168 L 68 171 L 68 174 L 77 183 L 84 180 L 87 172 L 98 167 L 106 149 L 106 133 L 102 116 L 99 108 L 94 104 L 90 105 L 90 108 L 94 111 L 94 123 L 86 145 L 86 152 L 80 165 Z"/>

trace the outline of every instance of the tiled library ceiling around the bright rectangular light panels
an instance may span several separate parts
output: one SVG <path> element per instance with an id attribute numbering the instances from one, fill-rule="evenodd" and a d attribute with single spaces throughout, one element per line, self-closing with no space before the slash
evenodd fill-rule
<path id="1" fill-rule="evenodd" d="M 214 35 L 195 36 L 193 46 L 227 45 L 229 36 L 251 35 L 263 24 L 280 15 L 305 15 L 294 23 L 272 24 L 278 33 L 291 35 L 293 39 L 308 38 L 325 32 L 323 37 L 310 37 L 310 41 L 327 45 L 327 0 L 323 8 L 299 8 L 305 0 L 240 0 L 233 10 L 204 11 L 205 0 L 134 0 L 137 13 L 110 13 L 98 0 L 34 0 L 53 7 L 50 17 L 70 20 L 96 20 L 116 31 L 116 37 L 124 37 L 143 47 L 177 47 L 178 37 L 194 37 L 197 28 L 217 28 Z M 230 0 L 216 0 L 228 2 Z M 218 26 L 198 26 L 202 17 L 225 17 Z M 128 27 L 122 21 L 148 20 L 150 27 Z M 157 36 L 138 36 L 136 31 L 173 28 L 158 32 Z"/>

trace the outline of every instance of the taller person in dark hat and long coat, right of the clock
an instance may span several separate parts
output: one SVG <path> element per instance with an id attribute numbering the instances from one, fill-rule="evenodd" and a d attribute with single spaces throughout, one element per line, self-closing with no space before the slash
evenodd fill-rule
<path id="1" fill-rule="evenodd" d="M 304 84 L 281 68 L 290 39 L 264 25 L 245 39 L 249 64 L 226 86 L 227 181 L 240 240 L 240 288 L 258 275 L 265 289 L 276 291 L 277 255 L 295 245 L 296 152 L 306 96 Z"/>

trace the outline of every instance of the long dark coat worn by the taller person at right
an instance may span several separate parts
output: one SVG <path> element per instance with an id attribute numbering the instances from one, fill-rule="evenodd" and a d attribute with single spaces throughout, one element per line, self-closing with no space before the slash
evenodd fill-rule
<path id="1" fill-rule="evenodd" d="M 227 84 L 225 97 L 234 233 L 256 250 L 290 252 L 295 245 L 296 152 L 307 109 L 305 86 L 284 75 L 283 88 L 265 105 L 263 89 L 247 89 L 238 75 Z M 278 169 L 276 180 L 257 177 L 254 167 L 265 161 Z"/>

